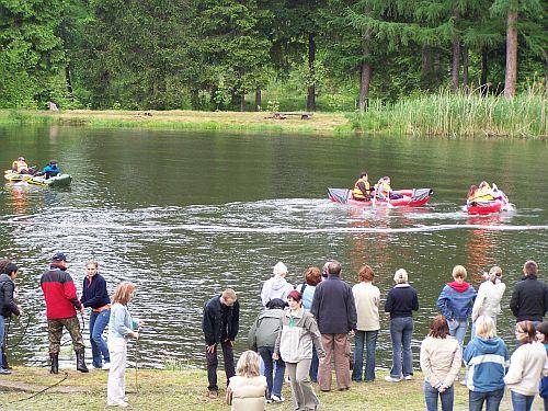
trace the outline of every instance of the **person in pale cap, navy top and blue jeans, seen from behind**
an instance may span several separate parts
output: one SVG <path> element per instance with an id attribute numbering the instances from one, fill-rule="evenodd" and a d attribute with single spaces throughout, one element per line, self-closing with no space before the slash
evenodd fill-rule
<path id="1" fill-rule="evenodd" d="M 419 311 L 416 290 L 409 285 L 408 272 L 400 269 L 393 275 L 396 285 L 388 292 L 385 311 L 390 313 L 390 340 L 392 341 L 392 367 L 385 379 L 398 383 L 413 379 L 413 311 Z M 403 361 L 402 361 L 403 356 Z"/>

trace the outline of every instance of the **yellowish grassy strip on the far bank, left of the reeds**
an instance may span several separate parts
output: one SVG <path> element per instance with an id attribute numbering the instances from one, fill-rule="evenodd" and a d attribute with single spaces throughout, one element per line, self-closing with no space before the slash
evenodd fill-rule
<path id="1" fill-rule="evenodd" d="M 236 130 L 334 134 L 352 132 L 343 114 L 315 113 L 310 119 L 290 115 L 285 119 L 265 118 L 265 112 L 193 112 L 193 111 L 90 111 L 59 113 L 46 111 L 0 111 L 0 124 L 56 124 L 91 127 L 158 128 L 189 130 Z M 353 132 L 352 132 L 353 133 Z"/>

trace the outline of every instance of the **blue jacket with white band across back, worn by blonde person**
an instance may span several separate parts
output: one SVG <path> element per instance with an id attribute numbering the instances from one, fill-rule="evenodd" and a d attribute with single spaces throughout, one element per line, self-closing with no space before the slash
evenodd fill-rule
<path id="1" fill-rule="evenodd" d="M 490 392 L 504 388 L 510 354 L 499 336 L 475 336 L 466 346 L 463 358 L 468 365 L 466 386 L 470 391 Z"/>

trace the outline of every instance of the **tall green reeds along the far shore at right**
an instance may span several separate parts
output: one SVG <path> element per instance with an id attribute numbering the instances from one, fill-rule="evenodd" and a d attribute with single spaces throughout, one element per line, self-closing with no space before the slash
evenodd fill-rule
<path id="1" fill-rule="evenodd" d="M 372 102 L 367 113 L 350 116 L 364 133 L 429 136 L 548 137 L 546 95 L 529 91 L 509 101 L 448 91 L 393 104 Z"/>

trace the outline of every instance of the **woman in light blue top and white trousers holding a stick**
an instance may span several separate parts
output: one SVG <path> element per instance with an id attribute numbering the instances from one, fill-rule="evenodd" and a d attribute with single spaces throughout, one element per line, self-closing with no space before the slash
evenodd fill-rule
<path id="1" fill-rule="evenodd" d="M 113 305 L 109 320 L 109 350 L 112 362 L 106 384 L 109 406 L 128 407 L 126 399 L 127 340 L 130 336 L 137 340 L 138 329 L 145 326 L 144 321 L 134 320 L 127 309 L 134 295 L 135 284 L 123 282 L 112 296 Z"/>

